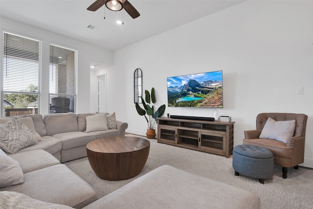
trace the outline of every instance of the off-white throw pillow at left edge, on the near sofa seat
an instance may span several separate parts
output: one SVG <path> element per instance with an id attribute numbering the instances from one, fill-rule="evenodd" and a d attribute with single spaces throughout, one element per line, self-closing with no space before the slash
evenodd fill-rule
<path id="1" fill-rule="evenodd" d="M 0 187 L 22 184 L 24 175 L 20 163 L 0 149 Z"/>

